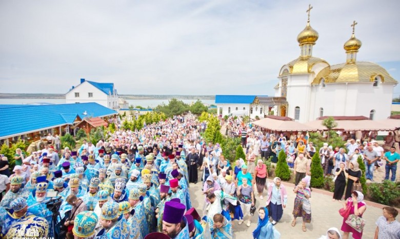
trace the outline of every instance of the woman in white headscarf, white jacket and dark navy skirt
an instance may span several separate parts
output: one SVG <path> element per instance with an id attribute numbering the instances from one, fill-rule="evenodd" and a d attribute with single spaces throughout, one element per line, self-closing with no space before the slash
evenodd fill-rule
<path id="1" fill-rule="evenodd" d="M 270 216 L 272 217 L 272 225 L 281 220 L 283 209 L 286 208 L 288 202 L 288 194 L 286 188 L 281 184 L 281 178 L 275 177 L 273 184 L 268 185 L 267 206 L 270 206 Z"/>

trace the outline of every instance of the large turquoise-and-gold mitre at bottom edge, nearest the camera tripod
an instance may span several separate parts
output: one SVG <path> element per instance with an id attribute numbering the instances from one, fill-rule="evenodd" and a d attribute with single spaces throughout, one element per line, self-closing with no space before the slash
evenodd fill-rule
<path id="1" fill-rule="evenodd" d="M 79 212 L 75 216 L 72 233 L 77 237 L 89 237 L 94 234 L 94 228 L 98 222 L 96 213 L 92 211 Z"/>

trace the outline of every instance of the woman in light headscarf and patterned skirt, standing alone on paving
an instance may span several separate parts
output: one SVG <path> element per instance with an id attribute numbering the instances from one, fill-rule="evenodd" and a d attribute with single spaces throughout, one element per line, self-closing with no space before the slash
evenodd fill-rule
<path id="1" fill-rule="evenodd" d="M 303 217 L 303 231 L 307 231 L 306 223 L 311 222 L 311 210 L 306 211 L 303 207 L 303 204 L 308 201 L 308 198 L 311 196 L 311 190 L 306 187 L 307 180 L 305 178 L 294 188 L 294 193 L 296 193 L 296 197 L 294 198 L 294 208 L 293 208 L 293 221 L 292 227 L 296 226 L 296 218 Z"/>

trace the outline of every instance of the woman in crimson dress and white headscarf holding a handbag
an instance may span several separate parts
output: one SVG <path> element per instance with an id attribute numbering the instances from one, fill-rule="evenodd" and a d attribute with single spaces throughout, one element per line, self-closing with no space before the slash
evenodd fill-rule
<path id="1" fill-rule="evenodd" d="M 356 216 L 362 217 L 363 213 L 367 209 L 367 205 L 365 204 L 364 194 L 359 191 L 353 191 L 351 193 L 351 197 L 348 198 L 347 203 L 343 203 L 343 208 L 350 207 L 350 215 L 354 214 Z M 353 233 L 354 239 L 361 239 L 363 237 L 363 231 L 358 232 L 354 228 L 350 227 L 346 223 L 347 218 L 343 218 L 342 228 L 343 239 L 349 238 L 350 232 Z"/>

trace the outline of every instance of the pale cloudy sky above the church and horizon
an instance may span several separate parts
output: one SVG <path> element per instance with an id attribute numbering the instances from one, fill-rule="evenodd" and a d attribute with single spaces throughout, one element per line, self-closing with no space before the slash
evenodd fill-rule
<path id="1" fill-rule="evenodd" d="M 396 0 L 22 0 L 0 2 L 0 92 L 66 93 L 86 78 L 121 94 L 273 95 L 309 3 L 314 56 L 345 62 L 356 20 L 357 59 L 400 80 Z"/>

